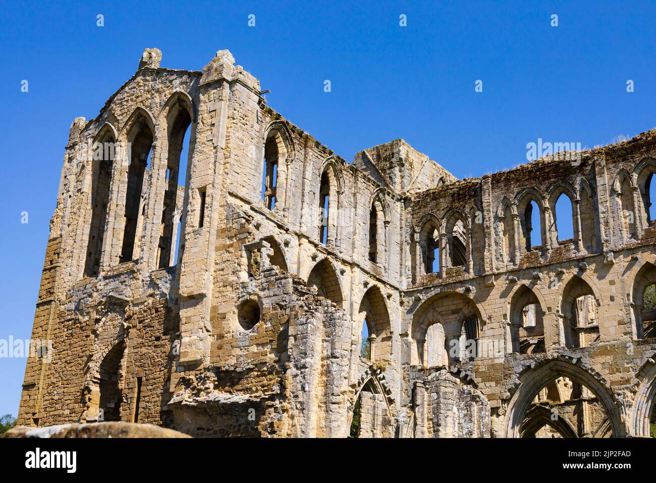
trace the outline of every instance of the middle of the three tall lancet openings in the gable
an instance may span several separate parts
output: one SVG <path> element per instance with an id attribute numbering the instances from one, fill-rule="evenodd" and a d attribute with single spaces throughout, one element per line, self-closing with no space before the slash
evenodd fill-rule
<path id="1" fill-rule="evenodd" d="M 127 190 L 125 192 L 125 229 L 123 230 L 123 246 L 119 262 L 134 260 L 134 244 L 137 237 L 139 217 L 142 212 L 142 190 L 144 175 L 150 165 L 153 133 L 144 120 L 134 127 L 136 135 L 128 136 L 131 141 L 130 165 L 127 170 Z"/>

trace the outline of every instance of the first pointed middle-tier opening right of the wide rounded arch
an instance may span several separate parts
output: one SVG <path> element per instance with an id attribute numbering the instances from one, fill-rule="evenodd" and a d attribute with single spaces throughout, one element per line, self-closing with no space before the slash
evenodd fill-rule
<path id="1" fill-rule="evenodd" d="M 519 354 L 545 352 L 544 313 L 533 290 L 522 286 L 514 294 L 510 304 L 512 352 Z"/>

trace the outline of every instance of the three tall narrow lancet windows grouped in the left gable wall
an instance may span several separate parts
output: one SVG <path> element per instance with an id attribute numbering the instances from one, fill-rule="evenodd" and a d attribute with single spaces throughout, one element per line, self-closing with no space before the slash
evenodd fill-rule
<path id="1" fill-rule="evenodd" d="M 190 97 L 177 92 L 167 101 L 157 122 L 139 107 L 120 132 L 109 123 L 100 128 L 92 143 L 85 277 L 98 275 L 103 256 L 116 256 L 116 260 L 107 261 L 108 265 L 139 258 L 142 227 L 149 209 L 161 210 L 154 264 L 157 268 L 174 264 L 184 193 L 179 183 L 184 185 L 192 113 Z M 154 147 L 155 137 L 165 141 Z M 157 191 L 151 185 L 155 182 L 163 188 L 161 200 L 148 196 Z M 120 252 L 112 251 L 108 236 L 119 238 Z"/>

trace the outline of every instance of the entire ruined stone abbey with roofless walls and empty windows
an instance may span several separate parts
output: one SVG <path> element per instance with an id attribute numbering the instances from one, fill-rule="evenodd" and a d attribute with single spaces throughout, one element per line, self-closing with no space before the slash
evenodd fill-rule
<path id="1" fill-rule="evenodd" d="M 228 51 L 160 60 L 70 128 L 18 424 L 649 436 L 656 131 L 459 180 L 401 139 L 346 162 Z"/>

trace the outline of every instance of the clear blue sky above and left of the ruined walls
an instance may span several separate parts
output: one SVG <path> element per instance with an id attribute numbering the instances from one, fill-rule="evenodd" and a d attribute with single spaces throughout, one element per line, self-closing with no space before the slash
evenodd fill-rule
<path id="1" fill-rule="evenodd" d="M 194 70 L 230 49 L 272 108 L 347 160 L 403 138 L 461 178 L 522 164 L 539 137 L 592 147 L 656 126 L 654 3 L 534 4 L 3 2 L 0 339 L 31 333 L 70 123 L 98 114 L 145 47 Z M 0 414 L 16 415 L 24 368 L 0 358 Z"/>

